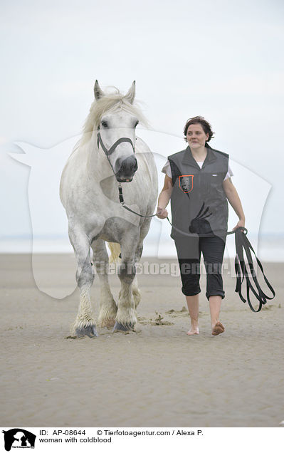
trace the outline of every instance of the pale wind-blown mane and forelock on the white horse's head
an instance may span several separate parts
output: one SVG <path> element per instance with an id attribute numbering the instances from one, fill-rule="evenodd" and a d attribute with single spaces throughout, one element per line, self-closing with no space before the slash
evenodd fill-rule
<path id="1" fill-rule="evenodd" d="M 115 88 L 115 87 L 112 87 Z M 142 110 L 140 108 L 140 103 L 135 101 L 134 104 L 131 104 L 125 95 L 120 93 L 118 88 L 115 88 L 116 93 L 106 93 L 103 95 L 99 100 L 94 100 L 92 105 L 90 106 L 90 113 L 85 120 L 83 125 L 83 135 L 80 138 L 75 148 L 80 145 L 85 144 L 90 140 L 92 136 L 93 130 L 98 128 L 100 124 L 100 118 L 107 112 L 116 112 L 119 110 L 124 110 L 127 113 L 137 116 L 140 124 L 144 125 L 144 127 L 149 127 L 149 123 L 147 119 L 144 117 Z"/>

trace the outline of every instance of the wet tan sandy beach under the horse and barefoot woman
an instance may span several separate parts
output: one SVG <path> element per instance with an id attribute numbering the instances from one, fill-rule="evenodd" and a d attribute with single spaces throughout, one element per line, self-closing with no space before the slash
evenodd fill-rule
<path id="1" fill-rule="evenodd" d="M 52 264 L 55 289 L 75 278 L 68 254 L 38 259 L 43 273 Z M 31 255 L 0 261 L 2 426 L 278 427 L 284 420 L 284 264 L 264 264 L 276 297 L 260 313 L 224 275 L 222 335 L 211 335 L 204 276 L 200 334 L 189 337 L 179 277 L 140 275 L 137 333 L 98 328 L 98 338 L 73 340 L 66 337 L 78 289 L 52 298 L 36 287 Z M 117 300 L 119 280 L 110 281 Z M 97 316 L 99 294 L 97 276 Z"/>

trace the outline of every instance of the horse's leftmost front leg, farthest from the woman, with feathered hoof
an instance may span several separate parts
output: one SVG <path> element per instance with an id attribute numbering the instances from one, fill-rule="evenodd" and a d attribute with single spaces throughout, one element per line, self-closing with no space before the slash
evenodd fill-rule
<path id="1" fill-rule="evenodd" d="M 98 336 L 90 301 L 90 288 L 94 281 L 94 271 L 90 262 L 90 239 L 78 229 L 69 229 L 69 237 L 77 258 L 76 281 L 80 288 L 78 314 L 70 327 L 70 332 L 79 337 Z"/>

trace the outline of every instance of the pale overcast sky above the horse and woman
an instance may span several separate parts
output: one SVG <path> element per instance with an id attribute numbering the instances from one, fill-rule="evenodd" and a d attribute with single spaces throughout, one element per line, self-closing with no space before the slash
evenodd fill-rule
<path id="1" fill-rule="evenodd" d="M 31 234 L 30 170 L 6 152 L 78 135 L 96 78 L 122 92 L 136 80 L 152 129 L 181 137 L 172 152 L 187 118 L 208 119 L 211 146 L 239 164 L 247 219 L 263 197 L 253 172 L 271 186 L 261 233 L 283 233 L 283 11 L 275 0 L 1 1 L 0 236 Z"/>

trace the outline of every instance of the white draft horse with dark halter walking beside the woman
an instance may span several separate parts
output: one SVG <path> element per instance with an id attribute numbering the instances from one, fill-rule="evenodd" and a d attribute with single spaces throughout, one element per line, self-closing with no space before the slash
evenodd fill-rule
<path id="1" fill-rule="evenodd" d="M 98 80 L 95 100 L 83 130 L 83 136 L 70 155 L 61 176 L 61 202 L 68 217 L 68 234 L 77 259 L 76 280 L 80 304 L 73 335 L 97 336 L 90 290 L 94 270 L 100 277 L 100 326 L 114 330 L 135 330 L 136 308 L 140 291 L 135 277 L 135 263 L 140 260 L 143 240 L 151 218 L 139 217 L 120 204 L 118 185 L 122 183 L 125 204 L 142 216 L 154 212 L 157 201 L 157 169 L 152 152 L 138 137 L 135 127 L 147 124 L 135 105 L 135 82 L 126 95 L 103 93 Z M 112 297 L 107 277 L 108 255 L 121 263 L 121 282 L 117 304 Z M 118 245 L 120 244 L 120 246 Z"/>

